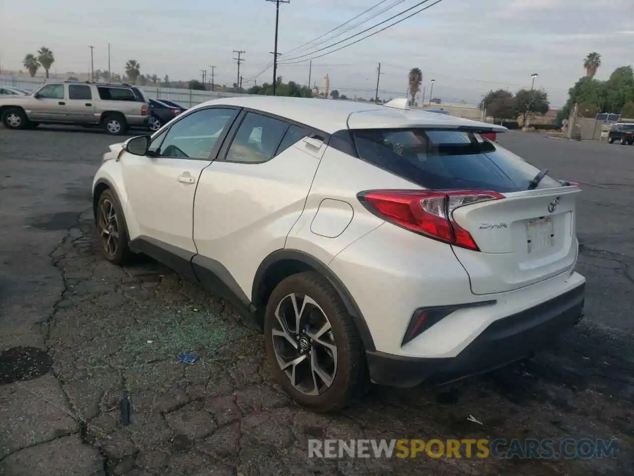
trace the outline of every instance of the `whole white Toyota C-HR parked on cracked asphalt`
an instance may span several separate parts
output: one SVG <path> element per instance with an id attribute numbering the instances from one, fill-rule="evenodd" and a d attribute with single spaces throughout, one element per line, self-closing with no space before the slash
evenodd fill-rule
<path id="1" fill-rule="evenodd" d="M 228 298 L 304 406 L 368 381 L 443 383 L 531 355 L 581 319 L 576 183 L 406 108 L 225 98 L 110 146 L 107 260 L 145 253 Z"/>

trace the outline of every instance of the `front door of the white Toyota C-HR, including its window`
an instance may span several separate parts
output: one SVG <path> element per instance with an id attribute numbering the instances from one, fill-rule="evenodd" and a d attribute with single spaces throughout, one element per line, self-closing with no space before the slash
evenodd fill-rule
<path id="1" fill-rule="evenodd" d="M 196 253 L 192 216 L 198 178 L 237 114 L 230 107 L 196 110 L 155 135 L 148 156 L 123 155 L 131 240 L 172 255 Z M 143 246 L 141 251 L 148 252 Z"/>

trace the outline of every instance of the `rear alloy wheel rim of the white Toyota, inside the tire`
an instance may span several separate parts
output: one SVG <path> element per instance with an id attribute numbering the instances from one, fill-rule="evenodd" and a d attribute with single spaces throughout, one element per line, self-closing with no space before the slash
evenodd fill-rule
<path id="1" fill-rule="evenodd" d="M 291 293 L 275 308 L 273 350 L 291 385 L 305 395 L 321 395 L 335 380 L 337 346 L 323 309 L 310 296 Z"/>

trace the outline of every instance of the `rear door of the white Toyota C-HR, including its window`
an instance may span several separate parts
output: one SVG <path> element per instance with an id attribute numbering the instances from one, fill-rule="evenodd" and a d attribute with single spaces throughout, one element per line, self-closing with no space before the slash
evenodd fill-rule
<path id="1" fill-rule="evenodd" d="M 317 131 L 264 114 L 243 112 L 237 122 L 200 175 L 192 263 L 203 284 L 223 282 L 248 299 L 257 267 L 284 248 L 301 215 L 326 146 L 304 140 Z"/>

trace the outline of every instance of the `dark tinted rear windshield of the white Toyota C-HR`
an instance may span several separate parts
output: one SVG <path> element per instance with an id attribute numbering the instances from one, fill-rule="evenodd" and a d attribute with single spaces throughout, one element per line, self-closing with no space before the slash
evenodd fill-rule
<path id="1" fill-rule="evenodd" d="M 434 190 L 527 190 L 540 169 L 470 131 L 363 129 L 353 136 L 359 158 Z M 561 187 L 549 176 L 538 188 Z"/>

